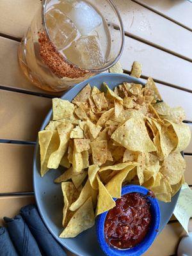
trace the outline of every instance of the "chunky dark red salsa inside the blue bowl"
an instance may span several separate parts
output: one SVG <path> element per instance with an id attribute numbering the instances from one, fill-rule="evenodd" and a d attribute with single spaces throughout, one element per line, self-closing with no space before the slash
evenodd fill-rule
<path id="1" fill-rule="evenodd" d="M 110 246 L 127 249 L 140 243 L 148 232 L 152 215 L 147 196 L 129 193 L 116 200 L 104 223 L 106 241 Z"/>

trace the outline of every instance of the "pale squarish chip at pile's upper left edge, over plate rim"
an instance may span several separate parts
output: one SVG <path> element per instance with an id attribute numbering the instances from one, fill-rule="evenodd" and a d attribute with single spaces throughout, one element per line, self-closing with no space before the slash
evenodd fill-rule
<path id="1" fill-rule="evenodd" d="M 52 99 L 52 120 L 68 118 L 74 113 L 74 104 L 68 100 Z"/>

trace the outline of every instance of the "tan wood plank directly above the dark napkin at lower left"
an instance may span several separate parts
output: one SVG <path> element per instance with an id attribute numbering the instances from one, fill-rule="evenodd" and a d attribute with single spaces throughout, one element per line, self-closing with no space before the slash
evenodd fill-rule
<path id="1" fill-rule="evenodd" d="M 28 204 L 35 204 L 34 196 L 0 196 L 0 226 L 4 225 L 4 216 L 13 218 Z"/>

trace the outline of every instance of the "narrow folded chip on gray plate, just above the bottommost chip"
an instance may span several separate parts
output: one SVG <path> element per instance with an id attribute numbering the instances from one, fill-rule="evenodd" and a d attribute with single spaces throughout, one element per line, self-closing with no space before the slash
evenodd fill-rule
<path id="1" fill-rule="evenodd" d="M 62 182 L 61 188 L 63 191 L 64 207 L 63 207 L 63 227 L 66 227 L 68 221 L 74 215 L 74 212 L 69 210 L 70 205 L 79 196 L 80 191 L 78 191 L 72 182 Z"/>

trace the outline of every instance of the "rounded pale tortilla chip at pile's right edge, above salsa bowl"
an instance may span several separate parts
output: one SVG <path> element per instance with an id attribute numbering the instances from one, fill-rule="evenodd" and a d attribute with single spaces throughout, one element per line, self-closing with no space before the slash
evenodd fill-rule
<path id="1" fill-rule="evenodd" d="M 164 159 L 160 172 L 168 179 L 170 185 L 177 184 L 186 169 L 186 162 L 180 152 L 172 153 Z"/>

